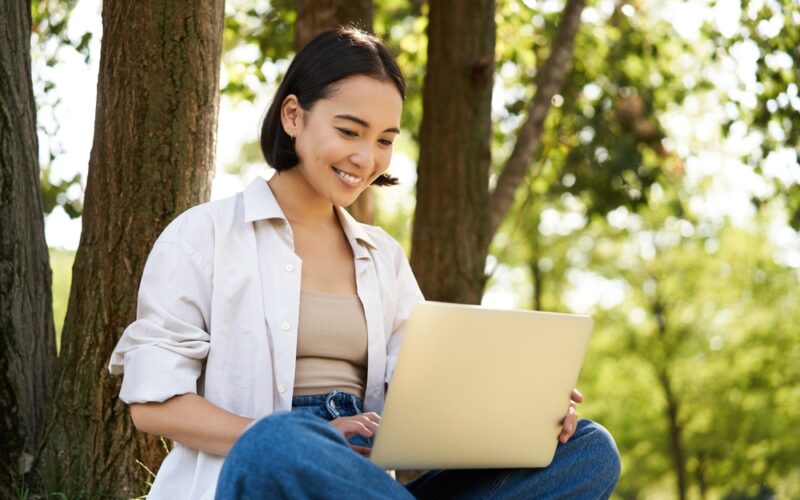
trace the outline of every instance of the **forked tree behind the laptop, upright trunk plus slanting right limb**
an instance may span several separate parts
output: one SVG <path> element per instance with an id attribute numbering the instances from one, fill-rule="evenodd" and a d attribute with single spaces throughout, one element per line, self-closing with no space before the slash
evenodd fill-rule
<path id="1" fill-rule="evenodd" d="M 494 3 L 431 2 L 411 265 L 426 298 L 478 303 L 489 244 L 541 143 L 584 0 L 568 0 L 511 156 L 489 194 Z M 455 43 L 454 40 L 458 42 Z"/>

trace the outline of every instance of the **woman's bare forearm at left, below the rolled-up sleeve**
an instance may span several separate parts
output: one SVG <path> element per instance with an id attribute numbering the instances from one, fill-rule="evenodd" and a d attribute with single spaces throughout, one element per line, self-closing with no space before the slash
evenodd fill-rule
<path id="1" fill-rule="evenodd" d="M 253 421 L 196 394 L 175 396 L 163 403 L 134 403 L 131 418 L 140 431 L 223 457 Z"/>

